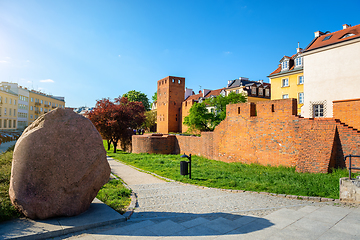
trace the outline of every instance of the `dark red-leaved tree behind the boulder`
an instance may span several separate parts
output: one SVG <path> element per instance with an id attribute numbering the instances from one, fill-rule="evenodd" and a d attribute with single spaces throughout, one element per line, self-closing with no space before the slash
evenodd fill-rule
<path id="1" fill-rule="evenodd" d="M 145 120 L 145 108 L 141 102 L 129 102 L 126 97 L 98 100 L 95 108 L 88 114 L 102 137 L 116 147 L 129 151 L 133 129 L 137 129 Z"/>

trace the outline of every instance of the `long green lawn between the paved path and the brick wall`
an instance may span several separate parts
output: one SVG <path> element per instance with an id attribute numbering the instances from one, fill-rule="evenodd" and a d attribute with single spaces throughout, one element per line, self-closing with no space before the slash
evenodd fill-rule
<path id="1" fill-rule="evenodd" d="M 106 141 L 104 145 L 107 149 Z M 348 177 L 346 169 L 335 169 L 331 174 L 298 173 L 295 167 L 225 163 L 192 156 L 192 179 L 189 179 L 188 176 L 180 175 L 180 161 L 187 160 L 180 158 L 180 155 L 134 154 L 120 150 L 113 153 L 112 147 L 107 154 L 129 165 L 176 181 L 223 189 L 336 199 L 339 198 L 339 179 Z"/>

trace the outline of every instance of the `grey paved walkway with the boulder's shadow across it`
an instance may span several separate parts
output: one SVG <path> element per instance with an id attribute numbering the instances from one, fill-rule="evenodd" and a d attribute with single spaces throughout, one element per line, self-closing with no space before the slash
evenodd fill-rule
<path id="1" fill-rule="evenodd" d="M 360 208 L 167 182 L 108 159 L 137 195 L 127 222 L 59 239 L 360 239 Z"/>

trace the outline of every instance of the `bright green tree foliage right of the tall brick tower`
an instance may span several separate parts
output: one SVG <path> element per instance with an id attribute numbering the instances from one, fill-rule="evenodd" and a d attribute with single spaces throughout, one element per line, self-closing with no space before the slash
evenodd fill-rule
<path id="1" fill-rule="evenodd" d="M 192 105 L 189 115 L 184 118 L 184 124 L 189 127 L 189 131 L 213 131 L 225 119 L 226 105 L 241 102 L 246 102 L 246 95 L 234 92 L 228 96 L 208 98 L 202 103 Z M 209 112 L 207 107 L 214 107 L 215 111 Z"/>

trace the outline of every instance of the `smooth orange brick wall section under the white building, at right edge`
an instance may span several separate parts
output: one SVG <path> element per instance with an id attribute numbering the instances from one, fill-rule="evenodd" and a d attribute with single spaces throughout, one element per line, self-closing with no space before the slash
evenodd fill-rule
<path id="1" fill-rule="evenodd" d="M 333 101 L 333 116 L 360 130 L 360 99 Z"/>

